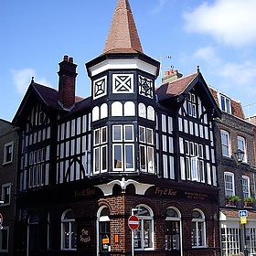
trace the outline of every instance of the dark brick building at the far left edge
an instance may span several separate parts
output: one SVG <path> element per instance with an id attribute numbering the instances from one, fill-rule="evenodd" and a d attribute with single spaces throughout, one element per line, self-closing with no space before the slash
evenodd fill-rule
<path id="1" fill-rule="evenodd" d="M 17 142 L 12 123 L 0 119 L 0 254 L 5 255 L 14 255 Z"/>

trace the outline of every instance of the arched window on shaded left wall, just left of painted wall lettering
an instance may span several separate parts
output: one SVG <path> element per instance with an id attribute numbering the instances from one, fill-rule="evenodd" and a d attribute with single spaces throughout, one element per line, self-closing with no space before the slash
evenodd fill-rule
<path id="1" fill-rule="evenodd" d="M 77 223 L 72 209 L 66 210 L 61 217 L 61 250 L 77 249 Z"/>

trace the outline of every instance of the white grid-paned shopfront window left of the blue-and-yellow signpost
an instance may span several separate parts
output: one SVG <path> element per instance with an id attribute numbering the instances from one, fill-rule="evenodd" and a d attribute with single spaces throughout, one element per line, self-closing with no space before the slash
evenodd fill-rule
<path id="1" fill-rule="evenodd" d="M 222 255 L 240 253 L 240 229 L 222 228 L 221 229 L 221 248 Z"/>

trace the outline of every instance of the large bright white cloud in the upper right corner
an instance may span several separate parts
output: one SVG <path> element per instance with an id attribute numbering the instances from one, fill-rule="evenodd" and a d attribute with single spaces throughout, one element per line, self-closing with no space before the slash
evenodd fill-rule
<path id="1" fill-rule="evenodd" d="M 186 12 L 189 32 L 208 34 L 219 43 L 242 47 L 256 42 L 256 1 L 215 0 Z"/>

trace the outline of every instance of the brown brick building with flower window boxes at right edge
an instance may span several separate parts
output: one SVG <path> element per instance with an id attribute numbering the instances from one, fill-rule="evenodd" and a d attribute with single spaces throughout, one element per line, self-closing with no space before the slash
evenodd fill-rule
<path id="1" fill-rule="evenodd" d="M 222 111 L 222 118 L 215 122 L 221 255 L 238 255 L 244 244 L 249 253 L 255 253 L 255 124 L 245 118 L 239 101 L 210 90 Z M 241 163 L 235 156 L 239 149 L 244 152 Z M 239 216 L 244 209 L 248 212 L 245 225 L 240 224 Z"/>

